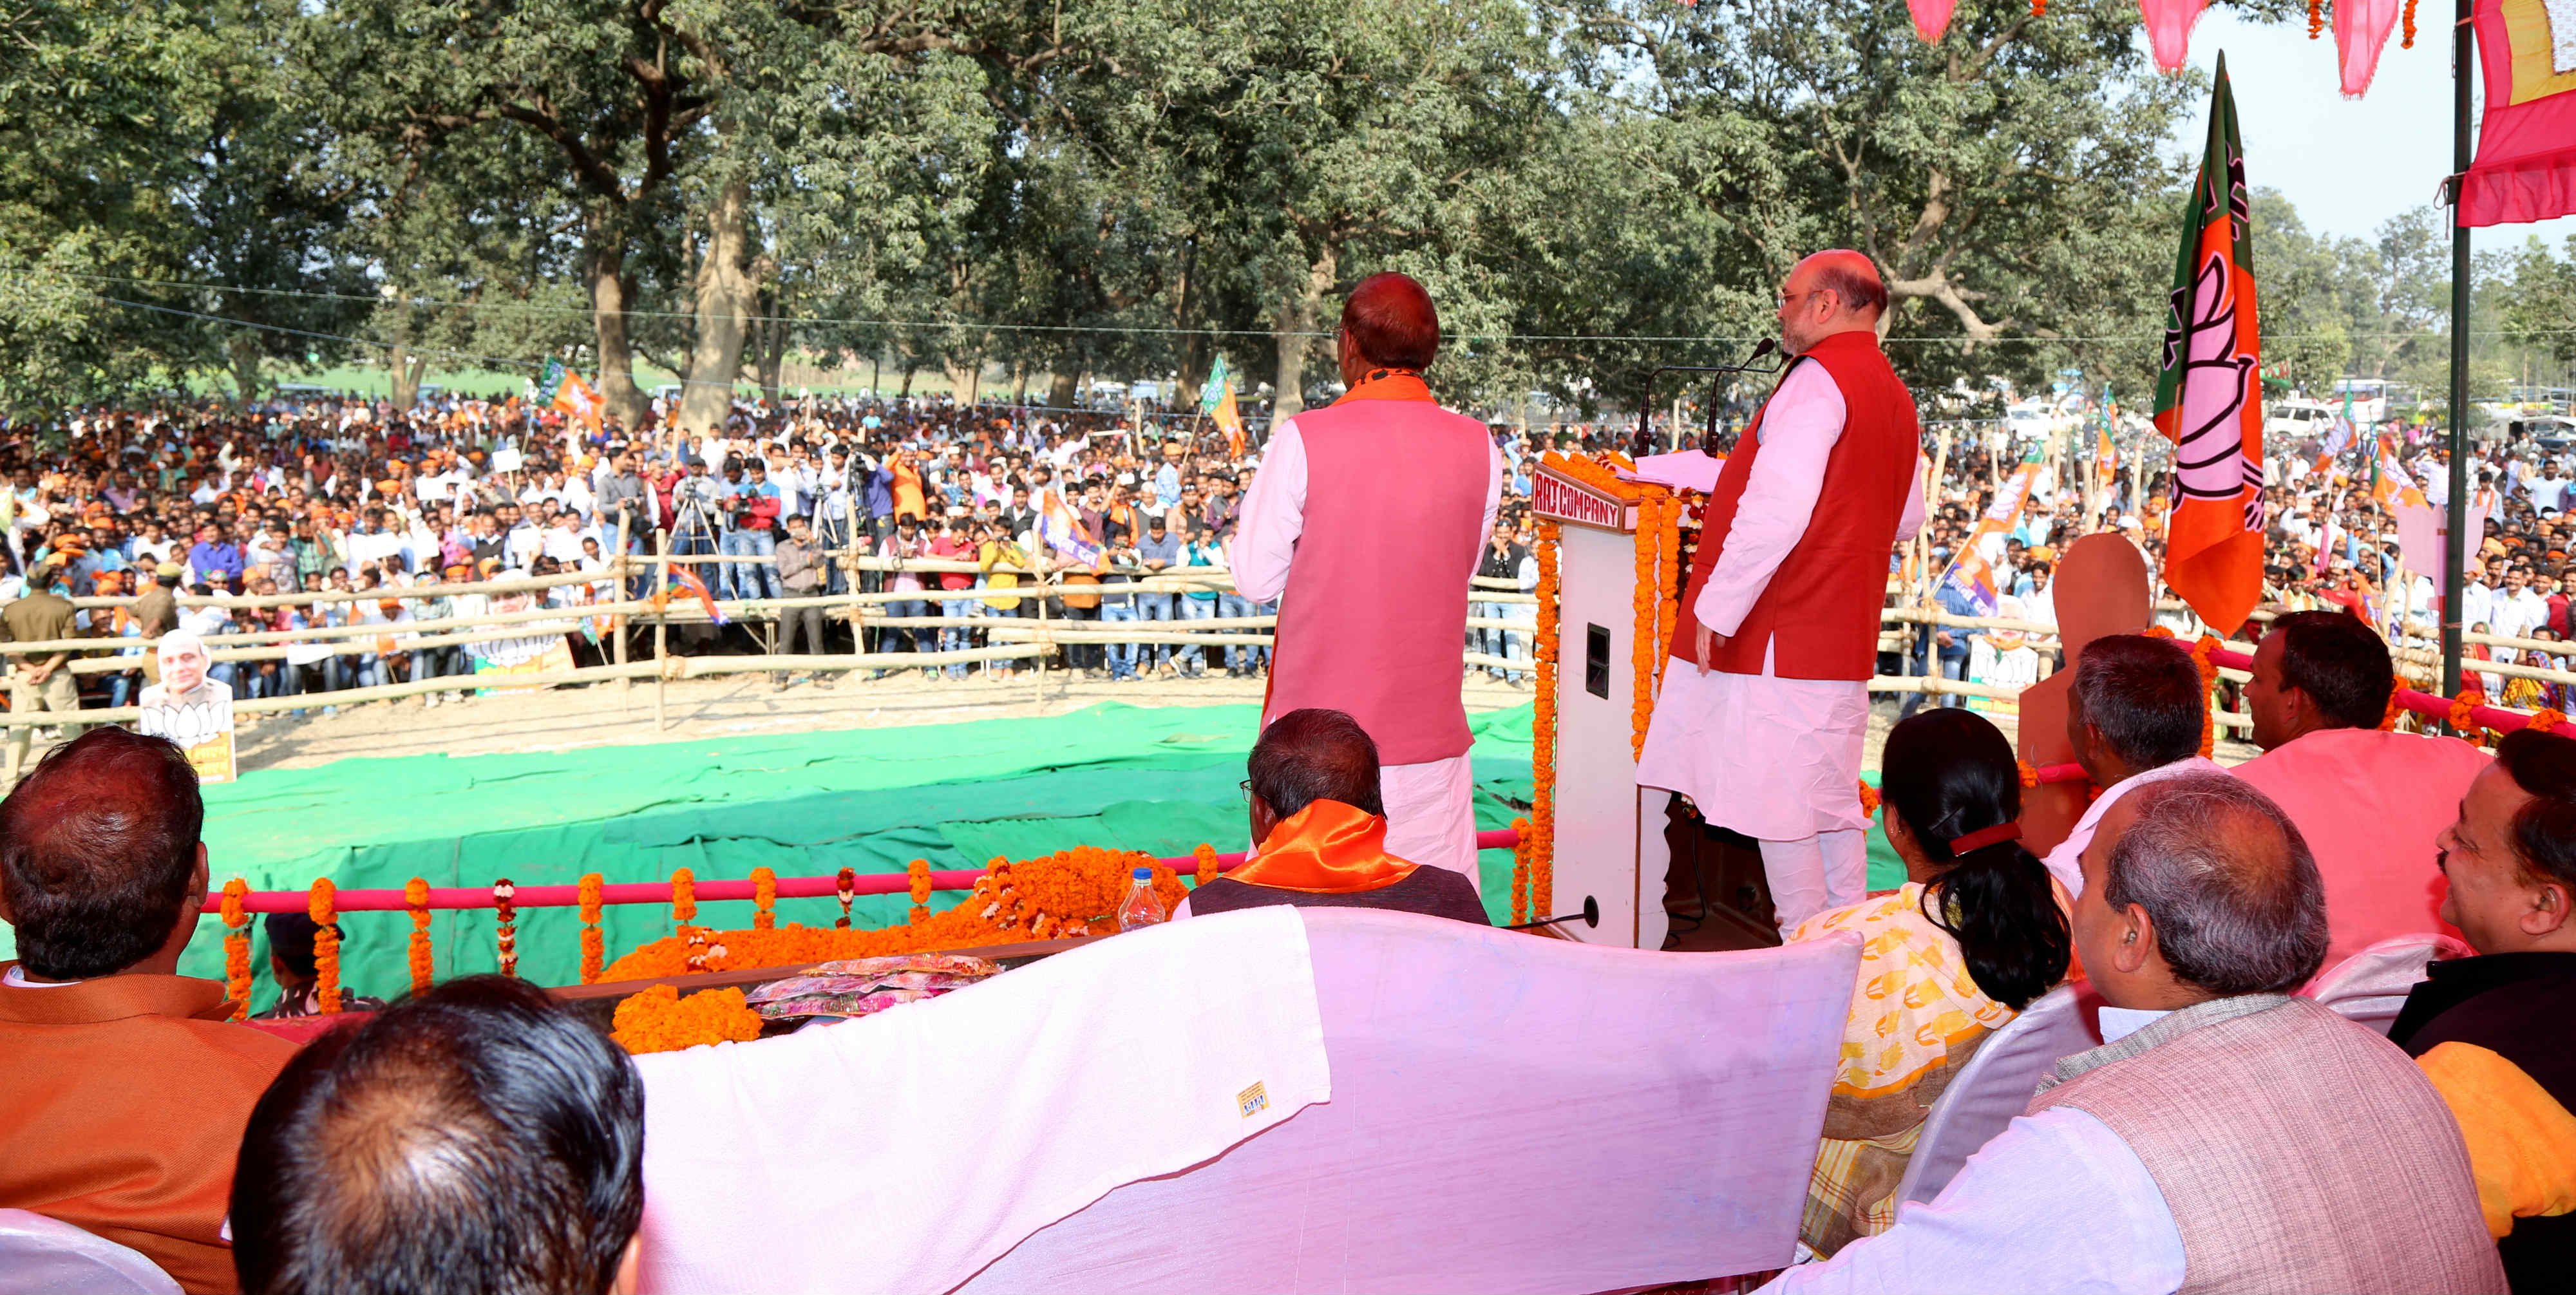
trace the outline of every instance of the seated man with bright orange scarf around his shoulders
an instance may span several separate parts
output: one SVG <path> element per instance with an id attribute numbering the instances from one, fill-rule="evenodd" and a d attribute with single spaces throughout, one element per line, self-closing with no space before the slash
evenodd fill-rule
<path id="1" fill-rule="evenodd" d="M 1190 891 L 1172 917 L 1257 904 L 1401 909 L 1489 927 L 1463 873 L 1386 852 L 1378 744 L 1340 711 L 1288 711 L 1252 744 L 1252 839 L 1257 855 Z"/>

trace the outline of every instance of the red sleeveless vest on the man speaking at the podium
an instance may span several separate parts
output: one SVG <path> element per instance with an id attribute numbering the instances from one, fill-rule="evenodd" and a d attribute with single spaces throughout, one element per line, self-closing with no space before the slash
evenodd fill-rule
<path id="1" fill-rule="evenodd" d="M 1806 536 L 1780 559 L 1744 626 L 1708 662 L 1728 675 L 1762 675 L 1762 654 L 1777 646 L 1772 675 L 1783 680 L 1868 680 L 1878 664 L 1878 613 L 1888 605 L 1888 551 L 1896 523 L 1914 489 L 1914 458 L 1922 453 L 1922 425 L 1914 420 L 1914 394 L 1888 368 L 1870 332 L 1837 332 L 1814 345 L 1798 363 L 1819 363 L 1842 391 L 1842 438 L 1824 461 L 1824 492 Z M 1767 404 L 1765 404 L 1767 412 Z M 1700 551 L 1682 587 L 1682 615 L 1667 651 L 1692 667 L 1692 641 L 1700 618 L 1692 610 L 1708 572 L 1726 551 L 1736 525 L 1736 505 L 1762 456 L 1762 417 L 1736 438 L 1736 451 L 1718 471 L 1708 494 Z"/>

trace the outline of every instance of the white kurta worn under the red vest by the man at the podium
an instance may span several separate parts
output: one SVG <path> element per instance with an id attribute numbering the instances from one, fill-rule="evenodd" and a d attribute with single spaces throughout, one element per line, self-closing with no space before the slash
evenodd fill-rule
<path id="1" fill-rule="evenodd" d="M 1772 572 L 1816 520 L 1824 466 L 1842 440 L 1842 389 L 1821 363 L 1780 378 L 1762 409 L 1762 456 L 1754 458 L 1726 551 L 1692 602 L 1710 633 L 1736 633 Z M 1914 463 L 1896 536 L 1922 528 L 1922 461 Z M 1821 517 L 1837 525 L 1837 517 Z M 1690 644 L 1677 644 L 1690 654 Z M 1636 780 L 1677 790 L 1716 826 L 1765 842 L 1819 832 L 1857 832 L 1860 747 L 1870 731 L 1870 687 L 1862 680 L 1780 680 L 1770 649 L 1762 675 L 1700 672 L 1690 662 L 1664 669 L 1664 690 L 1646 723 Z"/>

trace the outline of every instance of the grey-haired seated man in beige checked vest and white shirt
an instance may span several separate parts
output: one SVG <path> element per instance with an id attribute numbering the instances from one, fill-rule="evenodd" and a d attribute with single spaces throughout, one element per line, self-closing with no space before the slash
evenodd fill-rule
<path id="1" fill-rule="evenodd" d="M 2504 1290 L 2442 1094 L 2287 996 L 2326 955 L 2326 891 L 2272 801 L 2218 772 L 2143 785 L 2084 880 L 2110 1043 L 1937 1200 L 1767 1290 Z"/>

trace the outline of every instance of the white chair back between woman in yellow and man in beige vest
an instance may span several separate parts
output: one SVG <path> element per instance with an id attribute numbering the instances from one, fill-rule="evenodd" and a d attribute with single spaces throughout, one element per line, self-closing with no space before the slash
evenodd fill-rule
<path id="1" fill-rule="evenodd" d="M 1906 1177 L 1896 1184 L 1899 1207 L 1929 1202 L 1942 1187 L 1950 1187 L 1968 1156 L 1976 1156 L 2014 1115 L 2030 1107 L 2040 1076 L 2058 1058 L 2102 1045 L 2092 1007 L 2099 1007 L 2092 986 L 2069 981 L 2040 994 L 2022 1014 L 1986 1035 L 1976 1056 L 1950 1076 L 1950 1086 L 1932 1099 L 1924 1130 L 1914 1141 L 1914 1156 L 1906 1161 Z"/>

